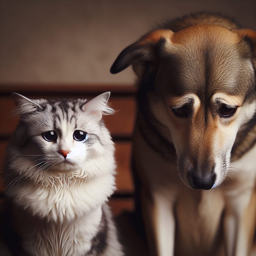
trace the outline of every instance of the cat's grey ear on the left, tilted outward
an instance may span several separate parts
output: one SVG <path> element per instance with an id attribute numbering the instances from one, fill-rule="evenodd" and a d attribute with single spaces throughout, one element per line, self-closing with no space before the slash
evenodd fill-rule
<path id="1" fill-rule="evenodd" d="M 19 114 L 42 110 L 42 107 L 39 104 L 21 94 L 12 93 L 11 95 L 15 105 L 17 106 Z"/>

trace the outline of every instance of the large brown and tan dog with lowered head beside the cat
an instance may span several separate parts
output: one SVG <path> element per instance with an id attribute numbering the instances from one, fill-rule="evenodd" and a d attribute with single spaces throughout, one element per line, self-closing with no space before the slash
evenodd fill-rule
<path id="1" fill-rule="evenodd" d="M 246 256 L 256 226 L 256 32 L 184 16 L 125 48 L 138 77 L 133 173 L 158 256 Z"/>

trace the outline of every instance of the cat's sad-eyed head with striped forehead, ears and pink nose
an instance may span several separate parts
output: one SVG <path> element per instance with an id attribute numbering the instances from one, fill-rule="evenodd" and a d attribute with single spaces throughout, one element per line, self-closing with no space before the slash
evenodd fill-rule
<path id="1" fill-rule="evenodd" d="M 29 99 L 13 93 L 20 122 L 12 139 L 18 166 L 27 177 L 37 173 L 70 173 L 97 176 L 98 166 L 114 162 L 113 142 L 102 115 L 112 114 L 107 106 L 110 93 L 86 99 Z M 112 158 L 112 159 L 109 159 Z M 18 160 L 19 159 L 19 160 Z M 18 167 L 15 167 L 16 169 Z M 23 168 L 23 169 L 22 169 Z"/>

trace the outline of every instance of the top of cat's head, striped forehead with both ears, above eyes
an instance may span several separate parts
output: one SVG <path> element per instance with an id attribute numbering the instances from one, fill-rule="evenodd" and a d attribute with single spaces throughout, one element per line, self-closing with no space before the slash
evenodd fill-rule
<path id="1" fill-rule="evenodd" d="M 93 99 L 29 99 L 13 93 L 15 105 L 20 114 L 20 124 L 25 125 L 30 136 L 46 131 L 74 132 L 74 129 L 99 132 L 102 116 L 113 114 L 107 103 L 110 92 Z"/>

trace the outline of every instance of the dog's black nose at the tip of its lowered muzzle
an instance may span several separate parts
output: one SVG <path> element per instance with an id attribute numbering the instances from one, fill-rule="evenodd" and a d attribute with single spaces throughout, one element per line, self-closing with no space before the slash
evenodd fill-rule
<path id="1" fill-rule="evenodd" d="M 214 185 L 215 179 L 215 173 L 207 174 L 205 176 L 190 173 L 188 180 L 192 188 L 208 190 Z"/>

